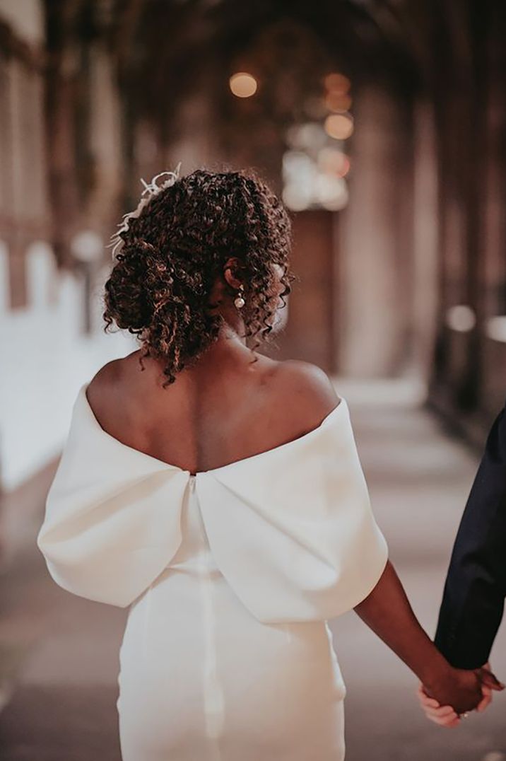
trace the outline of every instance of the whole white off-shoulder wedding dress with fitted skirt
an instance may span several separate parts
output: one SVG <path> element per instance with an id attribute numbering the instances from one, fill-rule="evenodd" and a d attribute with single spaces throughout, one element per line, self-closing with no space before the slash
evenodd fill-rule
<path id="1" fill-rule="evenodd" d="M 87 385 L 37 546 L 65 590 L 129 607 L 123 761 L 342 761 L 327 620 L 387 563 L 346 401 L 293 441 L 192 475 L 107 434 Z"/>

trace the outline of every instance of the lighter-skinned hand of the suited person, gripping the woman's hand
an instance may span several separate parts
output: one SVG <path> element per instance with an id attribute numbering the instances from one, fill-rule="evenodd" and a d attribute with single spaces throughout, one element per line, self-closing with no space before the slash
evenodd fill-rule
<path id="1" fill-rule="evenodd" d="M 476 705 L 476 708 L 473 708 L 473 710 L 478 712 L 485 711 L 485 708 L 487 708 L 490 702 L 492 702 L 492 689 L 495 689 L 498 692 L 504 689 L 504 684 L 496 679 L 495 675 L 490 670 L 490 664 L 488 663 L 479 669 L 468 671 L 455 669 L 454 671 L 456 672 L 456 686 L 459 684 L 462 685 L 463 683 L 473 685 L 476 683 L 476 679 L 479 680 L 482 696 Z M 462 674 L 465 674 L 466 676 L 462 677 Z M 416 694 L 427 718 L 434 721 L 435 724 L 439 724 L 441 727 L 458 727 L 461 721 L 460 717 L 462 712 L 460 710 L 457 712 L 450 700 L 446 701 L 442 699 L 442 702 L 439 702 L 435 696 L 429 696 L 422 683 L 418 685 Z M 445 705 L 445 703 L 447 703 L 447 705 Z M 470 708 L 467 710 L 470 710 Z"/>

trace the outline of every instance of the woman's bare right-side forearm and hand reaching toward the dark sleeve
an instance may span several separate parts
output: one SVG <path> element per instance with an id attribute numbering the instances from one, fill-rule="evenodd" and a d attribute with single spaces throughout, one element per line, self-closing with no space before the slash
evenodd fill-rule
<path id="1" fill-rule="evenodd" d="M 451 705 L 457 714 L 482 700 L 482 681 L 473 670 L 453 668 L 420 626 L 403 585 L 389 561 L 371 594 L 356 613 L 416 674 L 429 696 Z M 493 689 L 503 689 L 498 682 Z"/>

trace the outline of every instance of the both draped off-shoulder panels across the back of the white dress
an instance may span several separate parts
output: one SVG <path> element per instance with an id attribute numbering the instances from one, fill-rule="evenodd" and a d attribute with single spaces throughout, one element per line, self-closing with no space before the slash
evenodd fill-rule
<path id="1" fill-rule="evenodd" d="M 171 563 L 191 562 L 192 540 L 208 543 L 216 568 L 261 622 L 329 619 L 377 584 L 387 543 L 345 399 L 294 441 L 192 475 L 103 431 L 86 387 L 37 536 L 61 587 L 127 607 Z M 183 520 L 192 490 L 205 537 Z"/>

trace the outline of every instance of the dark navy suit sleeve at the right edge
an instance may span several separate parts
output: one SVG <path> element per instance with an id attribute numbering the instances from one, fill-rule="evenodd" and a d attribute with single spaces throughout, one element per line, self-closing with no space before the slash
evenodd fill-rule
<path id="1" fill-rule="evenodd" d="M 450 664 L 488 661 L 506 595 L 506 409 L 488 434 L 450 559 L 435 645 Z"/>

